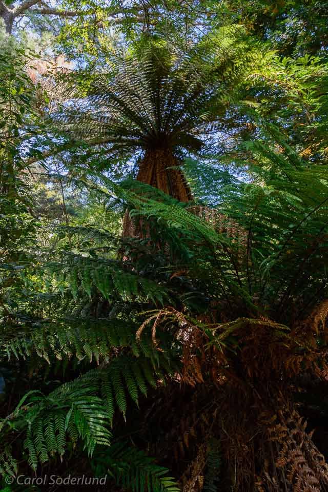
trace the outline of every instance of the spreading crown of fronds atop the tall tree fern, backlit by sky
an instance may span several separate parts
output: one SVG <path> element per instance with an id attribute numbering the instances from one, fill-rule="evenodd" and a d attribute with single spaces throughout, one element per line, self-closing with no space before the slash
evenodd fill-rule
<path id="1" fill-rule="evenodd" d="M 208 51 L 176 56 L 153 46 L 139 59 L 118 58 L 114 73 L 96 75 L 86 97 L 59 116 L 65 131 L 112 151 L 199 150 L 224 111 L 222 60 Z"/>

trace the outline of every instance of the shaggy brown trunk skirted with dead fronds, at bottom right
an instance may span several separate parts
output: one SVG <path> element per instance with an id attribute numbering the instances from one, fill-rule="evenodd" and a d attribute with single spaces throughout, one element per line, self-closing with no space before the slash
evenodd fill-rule
<path id="1" fill-rule="evenodd" d="M 151 453 L 182 492 L 327 492 L 328 466 L 288 393 L 223 379 L 175 384 L 144 425 L 160 428 Z"/>

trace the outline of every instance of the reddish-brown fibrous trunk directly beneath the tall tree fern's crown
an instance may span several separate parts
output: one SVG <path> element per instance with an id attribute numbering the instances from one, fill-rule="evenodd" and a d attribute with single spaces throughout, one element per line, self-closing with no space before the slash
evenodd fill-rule
<path id="1" fill-rule="evenodd" d="M 137 180 L 158 188 L 179 201 L 192 200 L 191 190 L 178 167 L 181 162 L 170 149 L 148 150 L 140 162 Z M 145 237 L 141 221 L 133 221 L 127 211 L 123 223 L 124 237 Z M 147 234 L 146 234 L 147 235 Z"/>

